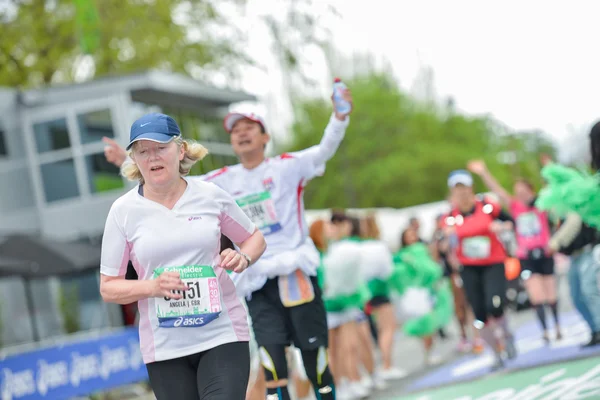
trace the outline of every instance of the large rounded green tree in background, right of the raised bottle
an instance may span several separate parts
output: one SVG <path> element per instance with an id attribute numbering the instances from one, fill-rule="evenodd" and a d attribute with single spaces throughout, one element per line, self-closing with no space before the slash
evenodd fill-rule
<path id="1" fill-rule="evenodd" d="M 308 208 L 406 207 L 443 200 L 446 178 L 469 160 L 483 158 L 501 183 L 511 188 L 521 175 L 539 182 L 540 149 L 554 151 L 539 138 L 535 149 L 523 136 L 500 136 L 497 124 L 451 110 L 419 104 L 402 93 L 393 78 L 370 74 L 348 80 L 355 110 L 351 123 L 325 176 L 306 188 Z M 319 143 L 331 105 L 306 100 L 296 106 L 297 122 L 290 148 Z M 498 153 L 516 150 L 519 162 L 505 166 Z M 485 190 L 477 180 L 477 190 Z"/>

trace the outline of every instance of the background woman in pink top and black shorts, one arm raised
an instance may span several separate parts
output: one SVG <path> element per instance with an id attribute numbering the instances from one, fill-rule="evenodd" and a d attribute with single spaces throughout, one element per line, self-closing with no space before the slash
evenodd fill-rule
<path id="1" fill-rule="evenodd" d="M 514 196 L 512 196 L 494 178 L 485 162 L 471 161 L 468 168 L 481 177 L 486 186 L 510 210 L 511 216 L 516 221 L 517 258 L 523 270 L 521 277 L 525 281 L 527 294 L 540 321 L 543 338 L 547 343 L 550 341 L 546 324 L 545 306 L 547 305 L 554 317 L 556 340 L 560 340 L 562 335 L 558 319 L 554 258 L 552 249 L 548 247 L 551 227 L 546 212 L 535 207 L 537 196 L 533 185 L 525 179 L 517 179 L 513 186 Z"/>

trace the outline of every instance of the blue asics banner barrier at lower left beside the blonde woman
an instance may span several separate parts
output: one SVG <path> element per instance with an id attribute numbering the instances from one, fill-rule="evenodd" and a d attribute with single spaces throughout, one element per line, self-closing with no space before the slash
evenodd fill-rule
<path id="1" fill-rule="evenodd" d="M 69 399 L 148 379 L 137 328 L 0 360 L 0 399 Z"/>

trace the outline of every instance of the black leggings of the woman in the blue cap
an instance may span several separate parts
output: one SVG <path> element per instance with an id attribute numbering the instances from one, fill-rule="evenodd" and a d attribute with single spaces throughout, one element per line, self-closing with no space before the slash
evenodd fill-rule
<path id="1" fill-rule="evenodd" d="M 250 375 L 248 342 L 146 365 L 157 400 L 244 400 Z"/>

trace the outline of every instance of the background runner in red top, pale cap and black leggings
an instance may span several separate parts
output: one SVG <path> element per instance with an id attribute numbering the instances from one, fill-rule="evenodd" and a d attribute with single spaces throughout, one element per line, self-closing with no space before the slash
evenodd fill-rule
<path id="1" fill-rule="evenodd" d="M 453 208 L 446 218 L 444 232 L 456 235 L 456 256 L 463 266 L 461 278 L 467 299 L 475 314 L 475 327 L 496 355 L 494 369 L 504 365 L 502 349 L 516 357 L 514 338 L 504 314 L 506 304 L 506 252 L 498 234 L 512 229 L 513 223 L 500 206 L 478 199 L 473 178 L 458 170 L 448 177 Z M 497 338 L 496 331 L 501 332 Z"/>

